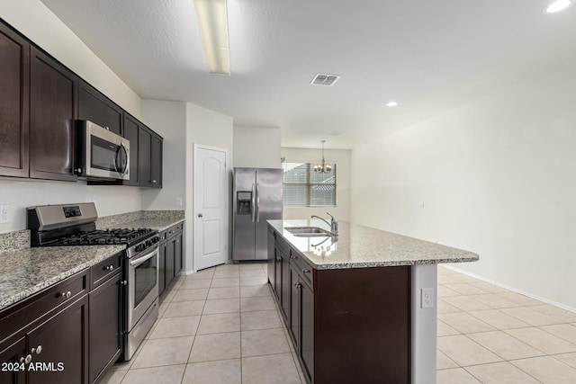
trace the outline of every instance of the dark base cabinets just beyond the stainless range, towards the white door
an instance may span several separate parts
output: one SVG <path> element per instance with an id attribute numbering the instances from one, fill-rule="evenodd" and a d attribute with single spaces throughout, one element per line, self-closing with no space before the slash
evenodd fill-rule
<path id="1" fill-rule="evenodd" d="M 167 288 L 182 272 L 184 251 L 184 223 L 176 224 L 160 232 L 160 261 L 158 267 L 158 294 L 164 299 Z"/>

